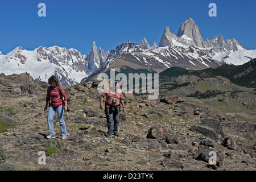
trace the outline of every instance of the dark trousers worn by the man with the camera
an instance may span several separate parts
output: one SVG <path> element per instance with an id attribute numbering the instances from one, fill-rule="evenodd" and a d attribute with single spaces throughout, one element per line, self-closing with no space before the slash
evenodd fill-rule
<path id="1" fill-rule="evenodd" d="M 118 133 L 120 107 L 105 107 L 105 114 L 108 123 L 108 135 Z"/>

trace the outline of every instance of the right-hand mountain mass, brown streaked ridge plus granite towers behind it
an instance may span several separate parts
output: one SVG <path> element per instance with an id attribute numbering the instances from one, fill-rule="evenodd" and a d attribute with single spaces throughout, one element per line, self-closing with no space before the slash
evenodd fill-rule
<path id="1" fill-rule="evenodd" d="M 192 18 L 188 18 L 181 23 L 177 35 L 166 27 L 159 47 L 156 42 L 151 47 L 145 38 L 139 45 L 129 40 L 120 44 L 110 51 L 106 61 L 86 81 L 97 79 L 99 73 L 110 68 L 117 71 L 146 69 L 149 72 L 161 72 L 170 67 L 199 70 L 221 64 L 244 64 L 255 57 L 255 49 L 247 50 L 235 39 L 224 41 L 219 35 L 204 41 L 199 27 Z"/>

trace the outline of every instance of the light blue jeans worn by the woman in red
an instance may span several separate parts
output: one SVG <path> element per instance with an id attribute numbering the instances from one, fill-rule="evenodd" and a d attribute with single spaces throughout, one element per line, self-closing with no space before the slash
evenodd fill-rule
<path id="1" fill-rule="evenodd" d="M 49 126 L 49 135 L 51 135 L 51 136 L 55 135 L 54 127 L 53 127 L 53 117 L 54 117 L 55 113 L 57 113 L 57 117 L 59 119 L 61 135 L 63 135 L 63 137 L 65 137 L 65 136 L 67 136 L 67 129 L 66 129 L 65 121 L 63 119 L 64 105 L 61 105 L 58 107 L 53 107 L 53 106 L 49 107 L 48 118 L 47 118 L 48 126 Z"/>

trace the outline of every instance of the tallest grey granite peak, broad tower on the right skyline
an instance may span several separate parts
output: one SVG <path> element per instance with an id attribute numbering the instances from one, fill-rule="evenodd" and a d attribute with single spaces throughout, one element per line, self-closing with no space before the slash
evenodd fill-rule
<path id="1" fill-rule="evenodd" d="M 182 35 L 191 38 L 196 46 L 205 47 L 199 28 L 192 18 L 188 18 L 184 23 L 181 23 L 177 36 L 180 37 Z"/>

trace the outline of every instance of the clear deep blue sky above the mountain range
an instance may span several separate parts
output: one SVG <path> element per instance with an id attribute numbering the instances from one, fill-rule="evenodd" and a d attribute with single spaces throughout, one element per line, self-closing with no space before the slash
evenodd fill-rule
<path id="1" fill-rule="evenodd" d="M 46 17 L 39 17 L 39 3 Z M 208 7 L 216 3 L 217 16 Z M 0 51 L 21 46 L 75 48 L 83 55 L 97 48 L 110 51 L 130 40 L 146 38 L 159 45 L 164 29 L 177 34 L 180 24 L 192 18 L 203 39 L 222 35 L 246 49 L 256 48 L 256 1 L 252 0 L 0 0 Z"/>

